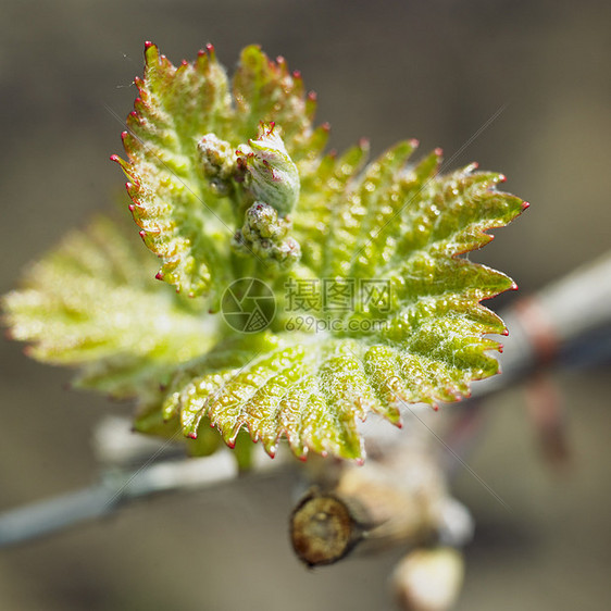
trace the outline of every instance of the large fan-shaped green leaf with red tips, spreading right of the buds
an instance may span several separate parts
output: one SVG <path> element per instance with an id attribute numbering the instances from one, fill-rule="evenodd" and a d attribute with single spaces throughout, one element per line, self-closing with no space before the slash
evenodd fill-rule
<path id="1" fill-rule="evenodd" d="M 320 246 L 308 272 L 320 274 L 316 282 L 382 283 L 388 301 L 333 317 L 321 300 L 298 314 L 315 316 L 325 333 L 283 331 L 291 320 L 285 312 L 257 349 L 250 338 L 215 347 L 169 388 L 164 413 L 179 414 L 187 436 L 209 417 L 229 445 L 244 426 L 271 454 L 286 438 L 301 458 L 312 450 L 360 459 L 358 422 L 367 412 L 398 424 L 401 404 L 456 401 L 471 381 L 497 373 L 488 352 L 500 345 L 483 336 L 506 329 L 479 301 L 513 283 L 459 255 L 489 241 L 485 232 L 520 214 L 523 202 L 496 190 L 502 176 L 474 166 L 437 176 L 437 153 L 410 170 L 413 148 L 399 145 L 342 182 L 338 169 L 348 161 L 323 160 L 321 173 L 336 190 L 326 216 L 317 212 L 327 230 L 312 223 L 312 209 L 295 213 L 303 242 Z M 362 149 L 347 155 L 357 170 Z M 313 276 L 292 279 L 303 277 Z"/>

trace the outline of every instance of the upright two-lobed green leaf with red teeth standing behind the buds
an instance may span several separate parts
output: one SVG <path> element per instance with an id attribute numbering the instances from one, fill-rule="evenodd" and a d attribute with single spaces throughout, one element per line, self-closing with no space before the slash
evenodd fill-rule
<path id="1" fill-rule="evenodd" d="M 327 128 L 312 129 L 315 101 L 306 96 L 301 77 L 258 47 L 241 54 L 233 99 L 212 46 L 178 67 L 151 43 L 145 59 L 145 76 L 135 79 L 139 97 L 123 133 L 127 161 L 112 159 L 129 178 L 140 236 L 162 260 L 158 278 L 190 296 L 211 295 L 215 307 L 232 280 L 226 263 L 240 226 L 234 212 L 240 209 L 235 200 L 241 188 L 236 171 L 235 179 L 226 177 L 219 190 L 217 180 L 203 171 L 198 144 L 214 134 L 236 149 L 255 138 L 261 122 L 275 122 L 288 154 L 306 167 L 324 147 Z"/>

